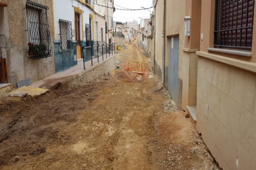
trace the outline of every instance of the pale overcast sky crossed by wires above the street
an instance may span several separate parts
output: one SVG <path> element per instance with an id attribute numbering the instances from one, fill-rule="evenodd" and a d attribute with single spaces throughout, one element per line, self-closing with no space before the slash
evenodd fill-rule
<path id="1" fill-rule="evenodd" d="M 141 20 L 141 18 L 150 18 L 150 11 L 154 10 L 154 8 L 148 9 L 148 10 L 141 10 L 141 11 L 123 11 L 123 10 L 117 10 L 123 8 L 129 8 L 129 9 L 142 9 L 144 8 L 150 8 L 152 7 L 152 0 L 114 0 L 114 5 L 116 8 L 116 11 L 114 12 L 114 20 L 115 21 L 133 21 L 133 19 L 137 20 L 138 23 Z M 118 7 L 118 6 L 120 7 Z M 141 17 L 141 18 L 139 18 Z"/>

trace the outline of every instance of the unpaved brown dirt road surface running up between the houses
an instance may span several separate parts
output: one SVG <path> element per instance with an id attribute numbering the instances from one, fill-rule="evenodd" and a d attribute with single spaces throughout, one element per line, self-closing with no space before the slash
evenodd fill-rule
<path id="1" fill-rule="evenodd" d="M 126 49 L 117 60 L 150 62 Z M 0 169 L 219 169 L 154 76 L 135 83 L 113 74 L 38 98 L 2 96 Z"/>

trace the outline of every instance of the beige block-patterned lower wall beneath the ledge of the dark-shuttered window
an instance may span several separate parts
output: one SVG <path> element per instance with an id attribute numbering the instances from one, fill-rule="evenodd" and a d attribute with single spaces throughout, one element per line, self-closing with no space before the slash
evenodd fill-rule
<path id="1" fill-rule="evenodd" d="M 224 170 L 256 169 L 256 74 L 198 58 L 197 130 Z"/>

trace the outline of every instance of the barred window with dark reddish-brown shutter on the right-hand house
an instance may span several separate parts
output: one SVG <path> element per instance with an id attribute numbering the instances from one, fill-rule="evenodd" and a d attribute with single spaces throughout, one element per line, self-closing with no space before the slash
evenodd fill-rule
<path id="1" fill-rule="evenodd" d="M 251 51 L 254 0 L 216 1 L 215 46 Z"/>

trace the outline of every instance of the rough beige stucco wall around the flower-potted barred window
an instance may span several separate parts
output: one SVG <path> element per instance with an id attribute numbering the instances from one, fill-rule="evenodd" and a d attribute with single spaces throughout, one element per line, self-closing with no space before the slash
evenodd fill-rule
<path id="1" fill-rule="evenodd" d="M 32 82 L 55 73 L 52 1 L 34 0 L 48 6 L 49 30 L 52 43 L 52 57 L 31 60 L 28 58 L 28 36 L 26 22 L 26 0 L 8 1 L 5 9 L 5 39 L 8 75 L 17 75 L 17 81 L 31 78 Z"/>

